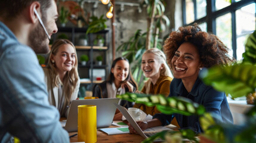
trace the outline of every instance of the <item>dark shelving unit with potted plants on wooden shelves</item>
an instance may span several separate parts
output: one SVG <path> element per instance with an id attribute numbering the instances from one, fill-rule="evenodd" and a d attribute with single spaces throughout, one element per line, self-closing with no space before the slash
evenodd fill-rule
<path id="1" fill-rule="evenodd" d="M 107 68 L 109 67 L 106 63 L 106 51 L 109 49 L 109 40 L 107 39 L 107 34 L 109 34 L 109 30 L 101 30 L 97 33 L 89 33 L 87 39 L 88 45 L 79 45 L 78 37 L 79 35 L 85 35 L 86 31 L 87 29 L 78 27 L 58 27 L 58 32 L 53 35 L 53 39 L 56 40 L 58 38 L 58 35 L 64 33 L 75 45 L 78 55 L 78 73 L 79 77 L 82 79 L 80 83 L 83 86 L 87 86 L 88 91 L 91 91 L 94 83 L 101 83 L 106 79 Z M 103 46 L 93 45 L 93 41 L 95 39 L 95 36 L 97 35 L 101 35 L 105 39 Z M 82 66 L 80 64 L 80 56 L 82 54 L 87 54 L 90 59 L 85 66 Z M 97 57 L 97 55 L 101 55 L 103 57 L 103 64 L 101 66 L 97 65 L 95 62 L 95 57 Z M 104 70 L 104 77 L 102 77 L 102 80 L 95 80 L 95 70 Z"/>

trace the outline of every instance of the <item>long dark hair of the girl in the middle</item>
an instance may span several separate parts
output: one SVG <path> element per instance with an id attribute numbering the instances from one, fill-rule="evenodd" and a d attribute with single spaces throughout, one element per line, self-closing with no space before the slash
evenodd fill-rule
<path id="1" fill-rule="evenodd" d="M 115 60 L 113 60 L 112 62 L 112 66 L 111 66 L 111 69 L 114 68 L 116 66 L 116 63 L 118 61 L 121 61 L 121 60 L 125 60 L 129 63 L 129 60 L 127 60 L 127 58 L 124 58 L 124 57 L 119 57 L 119 58 L 116 58 Z M 107 77 L 107 82 L 108 83 L 113 83 L 115 80 L 115 76 L 114 74 L 110 71 L 110 74 L 109 74 L 109 77 Z M 135 82 L 134 78 L 132 77 L 132 74 L 131 74 L 131 68 L 129 68 L 129 74 L 127 76 L 127 79 L 125 79 L 125 81 L 128 81 L 128 82 L 131 82 L 133 86 L 135 86 L 136 89 L 138 89 L 138 85 L 137 83 Z"/>

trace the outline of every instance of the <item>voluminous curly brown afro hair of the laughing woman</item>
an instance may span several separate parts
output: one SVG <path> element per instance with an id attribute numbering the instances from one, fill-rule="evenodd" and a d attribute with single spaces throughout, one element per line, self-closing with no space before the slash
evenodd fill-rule
<path id="1" fill-rule="evenodd" d="M 165 40 L 164 52 L 166 60 L 172 69 L 171 60 L 175 51 L 184 42 L 189 42 L 198 48 L 203 67 L 212 67 L 217 64 L 229 64 L 234 61 L 228 53 L 229 48 L 217 36 L 202 32 L 198 24 L 180 27 L 178 31 L 171 32 Z"/>

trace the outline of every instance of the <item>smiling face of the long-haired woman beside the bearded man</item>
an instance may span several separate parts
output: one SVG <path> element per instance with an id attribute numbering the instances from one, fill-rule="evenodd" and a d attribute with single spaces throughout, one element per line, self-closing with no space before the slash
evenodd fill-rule
<path id="1" fill-rule="evenodd" d="M 65 74 L 72 70 L 76 63 L 75 49 L 70 44 L 63 44 L 57 49 L 57 53 L 51 56 L 59 74 Z"/>

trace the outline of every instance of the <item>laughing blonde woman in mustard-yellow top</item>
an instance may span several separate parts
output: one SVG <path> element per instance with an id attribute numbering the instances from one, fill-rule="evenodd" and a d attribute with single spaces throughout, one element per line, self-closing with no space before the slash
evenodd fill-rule
<path id="1" fill-rule="evenodd" d="M 141 92 L 154 95 L 162 94 L 168 97 L 172 73 L 166 64 L 164 52 L 158 48 L 151 48 L 145 51 L 141 59 L 141 70 L 143 70 L 144 76 L 149 78 Z M 135 104 L 134 107 L 140 108 L 146 114 L 151 114 L 152 116 L 159 113 L 156 107 L 148 107 L 144 104 Z"/>

